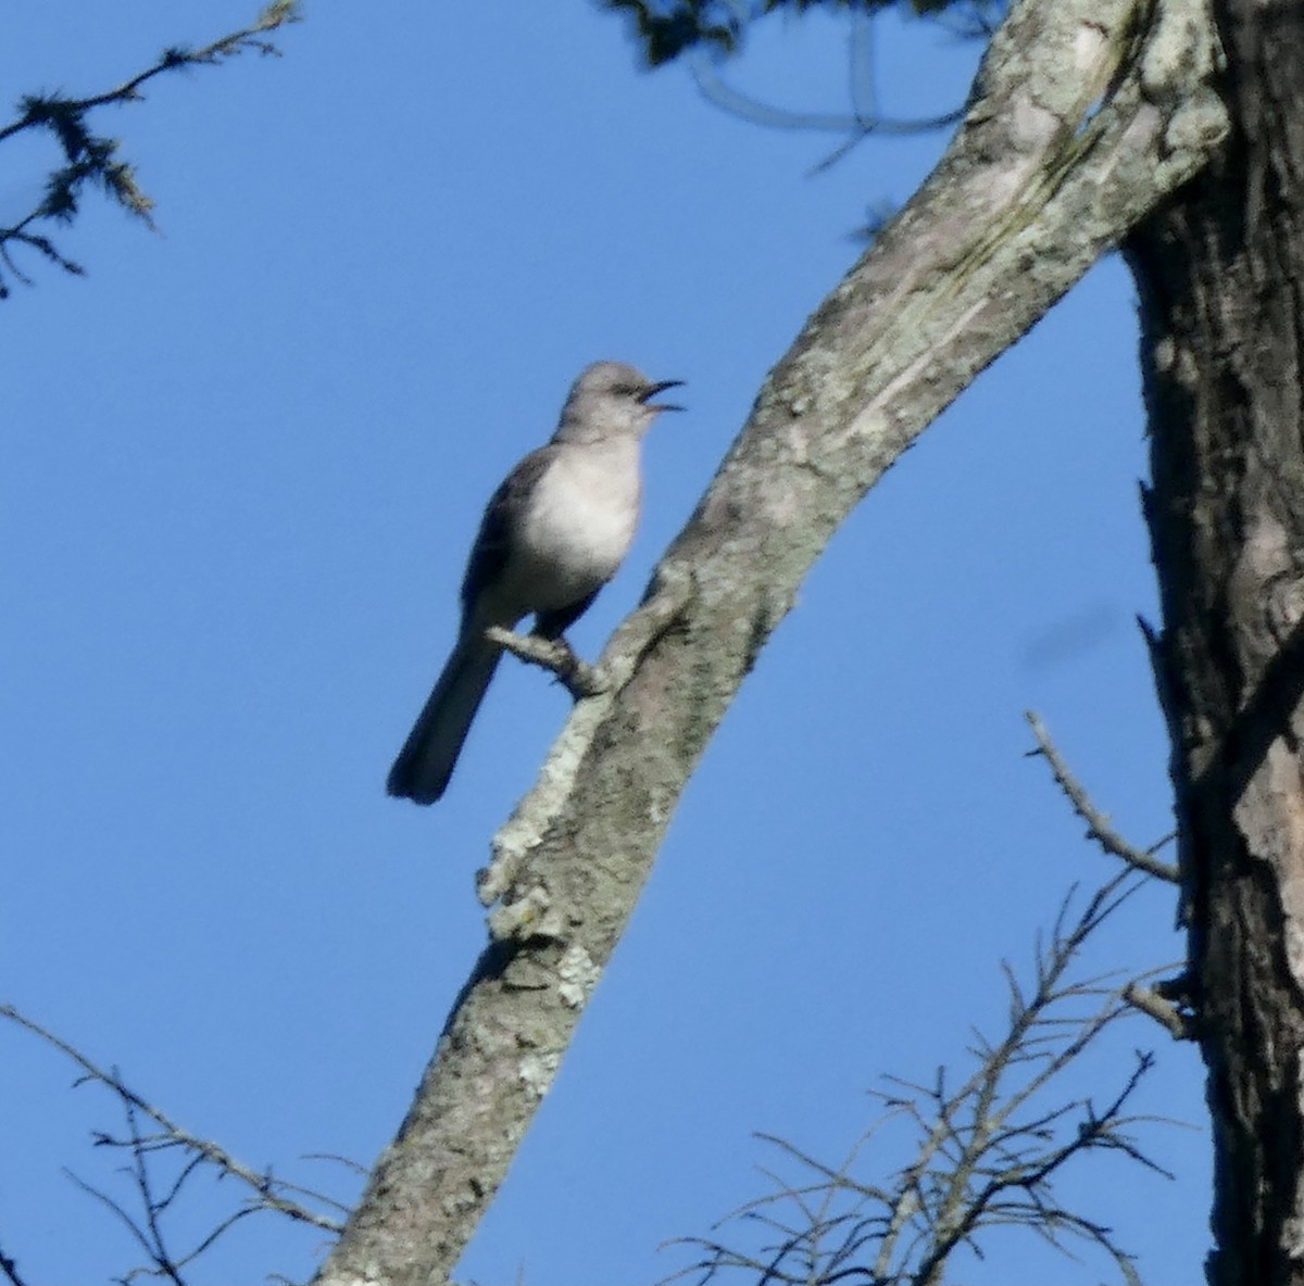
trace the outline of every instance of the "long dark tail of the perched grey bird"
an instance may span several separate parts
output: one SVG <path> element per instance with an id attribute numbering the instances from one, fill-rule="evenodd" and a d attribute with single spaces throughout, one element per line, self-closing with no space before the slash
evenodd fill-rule
<path id="1" fill-rule="evenodd" d="M 390 795 L 433 804 L 445 792 L 501 658 L 479 631 L 463 632 L 390 769 Z"/>

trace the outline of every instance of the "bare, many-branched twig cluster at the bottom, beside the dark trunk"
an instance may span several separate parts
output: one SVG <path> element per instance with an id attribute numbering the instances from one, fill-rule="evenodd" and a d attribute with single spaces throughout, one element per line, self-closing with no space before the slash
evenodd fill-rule
<path id="1" fill-rule="evenodd" d="M 764 1244 L 748 1250 L 719 1236 L 682 1240 L 698 1257 L 666 1281 L 695 1276 L 707 1282 L 733 1270 L 782 1286 L 936 1286 L 958 1247 L 981 1253 L 985 1230 L 1013 1226 L 1065 1253 L 1072 1242 L 1097 1247 L 1132 1286 L 1131 1257 L 1111 1230 L 1063 1205 L 1052 1180 L 1069 1162 L 1102 1150 L 1166 1173 L 1131 1136 L 1145 1118 L 1127 1114 L 1151 1055 L 1137 1054 L 1103 1107 L 1089 1098 L 1048 1105 L 1046 1098 L 1055 1078 L 1129 1012 L 1124 988 L 1071 973 L 1086 939 L 1138 886 L 1137 873 L 1127 869 L 1076 911 L 1071 894 L 1050 941 L 1037 945 L 1031 979 L 1022 982 L 1004 965 L 1008 1024 L 999 1040 L 977 1036 L 970 1048 L 977 1067 L 962 1084 L 951 1088 L 944 1070 L 930 1084 L 889 1078 L 891 1088 L 878 1096 L 888 1114 L 875 1128 L 895 1118 L 917 1131 L 915 1157 L 905 1170 L 887 1183 L 853 1175 L 872 1130 L 840 1165 L 763 1135 L 807 1177 L 793 1183 L 767 1173 L 772 1191 L 722 1221 L 759 1230 Z M 1084 1001 L 1094 1002 L 1085 1015 Z"/>

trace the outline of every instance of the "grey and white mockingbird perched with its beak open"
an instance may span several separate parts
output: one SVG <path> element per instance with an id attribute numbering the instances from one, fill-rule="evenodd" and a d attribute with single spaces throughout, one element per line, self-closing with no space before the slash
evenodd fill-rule
<path id="1" fill-rule="evenodd" d="M 462 628 L 390 769 L 390 795 L 433 804 L 480 709 L 502 648 L 489 625 L 558 638 L 621 565 L 639 519 L 639 443 L 662 410 L 653 382 L 625 362 L 595 362 L 571 386 L 557 431 L 494 491 L 462 581 Z"/>

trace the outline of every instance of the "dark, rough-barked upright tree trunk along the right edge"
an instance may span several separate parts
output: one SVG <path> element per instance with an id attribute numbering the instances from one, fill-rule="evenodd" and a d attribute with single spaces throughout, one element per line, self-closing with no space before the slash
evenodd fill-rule
<path id="1" fill-rule="evenodd" d="M 1304 1282 L 1304 10 L 1215 0 L 1232 130 L 1132 238 L 1219 1283 Z"/>

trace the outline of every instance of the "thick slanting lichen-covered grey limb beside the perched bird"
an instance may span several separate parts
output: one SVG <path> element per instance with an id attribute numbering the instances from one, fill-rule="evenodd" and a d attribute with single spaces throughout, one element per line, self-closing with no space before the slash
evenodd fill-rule
<path id="1" fill-rule="evenodd" d="M 679 792 L 855 503 L 1224 132 L 1198 0 L 1021 0 L 938 169 L 806 323 L 481 885 L 490 945 L 321 1283 L 442 1282 Z"/>

